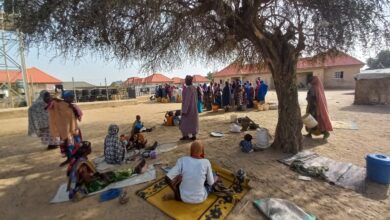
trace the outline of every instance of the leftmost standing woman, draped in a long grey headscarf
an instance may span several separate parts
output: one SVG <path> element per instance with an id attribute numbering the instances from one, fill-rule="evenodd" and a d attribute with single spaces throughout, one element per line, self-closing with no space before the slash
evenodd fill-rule
<path id="1" fill-rule="evenodd" d="M 42 90 L 37 100 L 28 108 L 28 135 L 40 137 L 48 150 L 55 149 L 60 144 L 59 137 L 51 136 L 49 131 L 49 114 L 46 108 L 50 101 L 50 93 Z"/>

